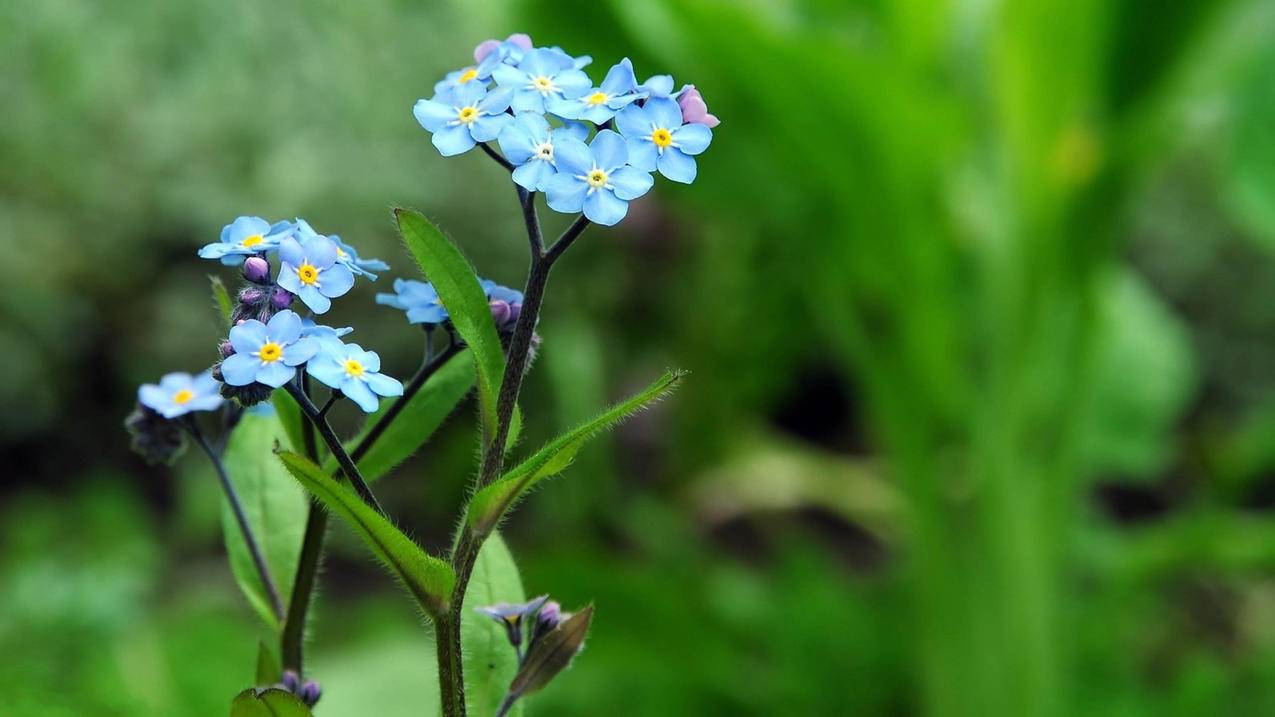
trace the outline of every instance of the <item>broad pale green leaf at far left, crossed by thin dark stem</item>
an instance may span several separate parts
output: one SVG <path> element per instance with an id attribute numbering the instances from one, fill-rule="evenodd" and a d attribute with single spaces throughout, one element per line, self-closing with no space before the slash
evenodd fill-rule
<path id="1" fill-rule="evenodd" d="M 283 426 L 273 412 L 246 411 L 231 434 L 224 463 L 244 505 L 244 514 L 274 577 L 279 598 L 287 600 L 297 572 L 309 501 L 274 458 L 275 441 L 282 440 Z M 279 624 L 269 597 L 240 533 L 238 522 L 224 500 L 222 532 L 236 582 L 266 624 L 277 629 Z"/>

